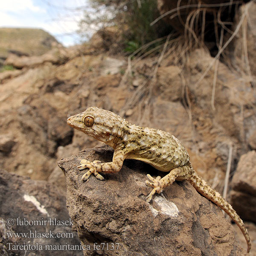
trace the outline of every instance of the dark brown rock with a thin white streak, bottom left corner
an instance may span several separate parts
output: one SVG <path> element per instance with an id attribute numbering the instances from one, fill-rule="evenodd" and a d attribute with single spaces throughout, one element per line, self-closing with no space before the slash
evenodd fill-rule
<path id="1" fill-rule="evenodd" d="M 28 255 L 57 256 L 60 250 L 51 250 L 54 246 L 80 245 L 71 230 L 65 196 L 55 186 L 0 170 L 0 190 L 0 255 L 24 255 L 26 251 Z M 29 237 L 10 238 L 8 233 Z M 44 238 L 44 235 L 50 237 Z M 59 235 L 66 238 L 57 238 Z M 24 245 L 32 250 L 26 250 Z M 62 249 L 61 255 L 79 256 L 82 252 Z"/>

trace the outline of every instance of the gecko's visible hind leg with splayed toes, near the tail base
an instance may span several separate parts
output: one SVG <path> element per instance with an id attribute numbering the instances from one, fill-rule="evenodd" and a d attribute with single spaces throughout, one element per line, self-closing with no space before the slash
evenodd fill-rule
<path id="1" fill-rule="evenodd" d="M 161 178 L 160 176 L 157 176 L 155 179 L 151 177 L 151 175 L 147 174 L 147 178 L 151 180 L 149 182 L 148 180 L 145 181 L 146 186 L 153 188 L 150 194 L 146 197 L 146 201 L 149 203 L 155 193 L 161 193 L 163 192 L 163 189 L 166 186 L 171 185 L 175 179 L 179 176 L 180 172 L 183 171 L 182 167 L 177 167 L 172 169 L 166 176 Z"/>

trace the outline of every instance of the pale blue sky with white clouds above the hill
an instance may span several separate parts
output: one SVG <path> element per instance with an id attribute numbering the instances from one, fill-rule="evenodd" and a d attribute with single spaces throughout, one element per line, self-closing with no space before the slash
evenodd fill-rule
<path id="1" fill-rule="evenodd" d="M 64 46 L 79 44 L 76 33 L 88 0 L 0 0 L 0 27 L 40 28 Z"/>

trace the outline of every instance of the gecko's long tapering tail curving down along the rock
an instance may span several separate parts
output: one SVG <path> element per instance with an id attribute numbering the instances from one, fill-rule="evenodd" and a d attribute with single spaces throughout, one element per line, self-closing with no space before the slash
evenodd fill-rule
<path id="1" fill-rule="evenodd" d="M 194 171 L 192 176 L 189 178 L 189 182 L 192 186 L 205 198 L 212 201 L 218 207 L 224 210 L 233 221 L 236 222 L 242 233 L 244 234 L 244 238 L 247 242 L 247 253 L 249 253 L 251 248 L 250 236 L 248 234 L 247 228 L 244 226 L 243 221 L 233 209 L 233 207 L 214 189 L 212 189 L 197 173 Z"/>

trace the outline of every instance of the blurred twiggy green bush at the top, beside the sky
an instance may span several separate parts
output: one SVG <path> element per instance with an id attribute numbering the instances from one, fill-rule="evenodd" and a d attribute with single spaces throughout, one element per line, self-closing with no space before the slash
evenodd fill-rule
<path id="1" fill-rule="evenodd" d="M 116 47 L 116 51 L 133 53 L 145 44 L 162 38 L 172 31 L 163 20 L 150 26 L 151 22 L 160 16 L 157 0 L 90 0 L 92 10 L 84 11 L 84 18 L 80 22 L 80 32 L 88 32 L 90 27 L 103 29 L 106 26 L 115 27 L 116 34 L 102 36 L 105 44 Z M 95 12 L 93 15 L 90 12 Z M 97 15 L 96 15 L 97 14 Z M 114 31 L 114 30 L 113 30 Z M 117 35 L 117 34 L 120 34 Z M 103 34 L 104 35 L 104 34 Z M 113 42 L 111 42 L 113 37 Z M 145 47 L 148 51 L 160 45 L 159 41 Z"/>

